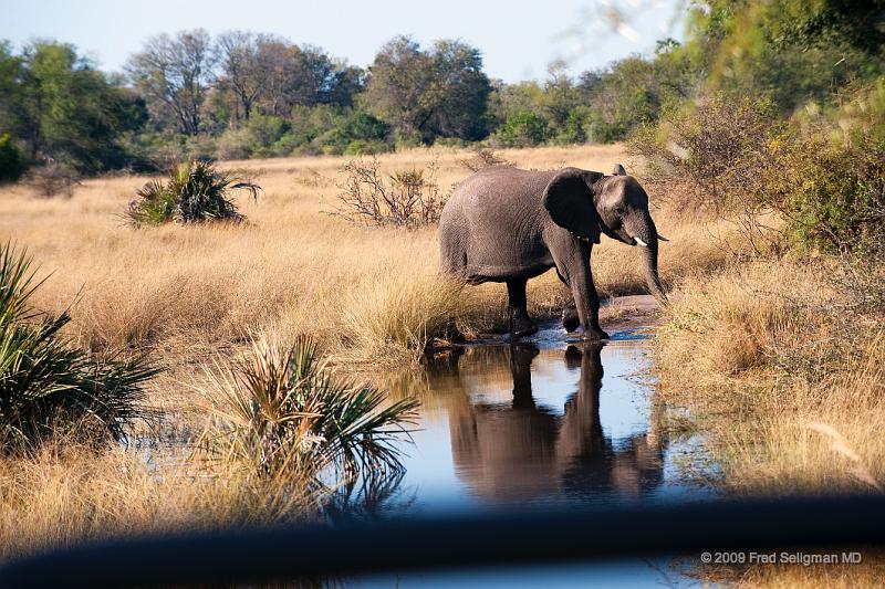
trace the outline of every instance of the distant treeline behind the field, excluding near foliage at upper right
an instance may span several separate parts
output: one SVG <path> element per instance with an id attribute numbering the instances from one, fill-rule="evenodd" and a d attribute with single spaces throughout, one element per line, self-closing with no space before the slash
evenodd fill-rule
<path id="1" fill-rule="evenodd" d="M 363 70 L 278 36 L 183 31 L 149 39 L 118 74 L 70 44 L 37 41 L 17 53 L 0 43 L 0 173 L 14 179 L 45 162 L 96 173 L 187 157 L 615 141 L 689 93 L 696 76 L 677 48 L 504 84 L 483 72 L 477 48 L 452 40 L 423 48 L 396 38 Z"/>

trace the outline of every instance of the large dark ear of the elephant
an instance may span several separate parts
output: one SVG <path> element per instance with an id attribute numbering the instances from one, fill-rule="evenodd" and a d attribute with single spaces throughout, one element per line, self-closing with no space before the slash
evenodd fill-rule
<path id="1" fill-rule="evenodd" d="M 600 178 L 598 172 L 566 168 L 550 180 L 542 198 L 554 223 L 593 243 L 600 243 L 600 215 L 590 185 Z"/>

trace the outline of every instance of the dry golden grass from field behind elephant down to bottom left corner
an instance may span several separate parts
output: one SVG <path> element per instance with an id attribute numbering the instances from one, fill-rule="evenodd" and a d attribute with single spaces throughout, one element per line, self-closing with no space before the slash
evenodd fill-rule
<path id="1" fill-rule="evenodd" d="M 507 150 L 521 167 L 565 165 L 608 171 L 618 147 Z M 470 172 L 470 152 L 414 150 L 379 157 L 385 172 L 436 161 L 444 191 Z M 0 189 L 0 240 L 13 240 L 51 273 L 37 305 L 58 311 L 76 301 L 69 334 L 93 349 L 147 349 L 171 368 L 150 387 L 167 414 L 164 435 L 192 439 L 205 399 L 188 388 L 194 366 L 216 354 L 236 356 L 256 332 L 291 341 L 314 337 L 342 364 L 372 367 L 415 359 L 424 340 L 456 325 L 467 336 L 504 327 L 503 285 L 464 287 L 437 274 L 436 229 L 354 227 L 333 209 L 344 158 L 230 162 L 264 193 L 242 200 L 243 225 L 135 230 L 122 218 L 145 177 L 85 181 L 71 199 L 43 199 L 23 187 Z M 665 211 L 655 213 L 670 238 L 662 276 L 675 282 L 720 266 L 722 242 Z M 635 249 L 603 243 L 594 254 L 602 294 L 645 292 Z M 531 281 L 538 315 L 559 315 L 570 294 L 555 273 Z M 622 309 L 623 312 L 623 309 Z M 368 360 L 368 362 L 365 362 Z M 405 362 L 408 364 L 408 362 Z M 150 432 L 144 432 L 149 437 Z M 219 476 L 160 445 L 145 462 L 138 451 L 46 450 L 0 461 L 0 556 L 84 537 L 178 525 L 211 525 L 298 512 L 284 493 L 256 488 L 236 473 Z"/>

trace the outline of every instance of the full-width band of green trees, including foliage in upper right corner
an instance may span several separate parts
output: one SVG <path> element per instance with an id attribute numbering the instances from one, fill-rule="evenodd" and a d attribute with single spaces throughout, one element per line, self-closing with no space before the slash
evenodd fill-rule
<path id="1" fill-rule="evenodd" d="M 79 173 L 185 158 L 371 154 L 419 145 L 611 143 L 712 93 L 826 112 L 883 72 L 883 2 L 691 3 L 684 45 L 659 41 L 576 76 L 506 84 L 477 48 L 409 38 L 365 70 L 268 34 L 149 39 L 107 74 L 55 41 L 0 43 L 0 177 L 50 162 Z"/>

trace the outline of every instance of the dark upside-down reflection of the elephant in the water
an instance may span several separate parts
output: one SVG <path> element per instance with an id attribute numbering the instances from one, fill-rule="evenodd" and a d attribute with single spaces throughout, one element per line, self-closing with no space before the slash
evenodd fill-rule
<path id="1" fill-rule="evenodd" d="M 535 403 L 531 364 L 539 350 L 531 345 L 509 349 L 512 403 L 480 401 L 449 413 L 455 465 L 473 493 L 497 501 L 635 497 L 659 485 L 663 451 L 656 435 L 646 432 L 613 444 L 603 434 L 601 349 L 585 344 L 565 351 L 566 366 L 580 367 L 581 376 L 562 416 Z M 503 348 L 481 351 L 507 361 Z"/>

